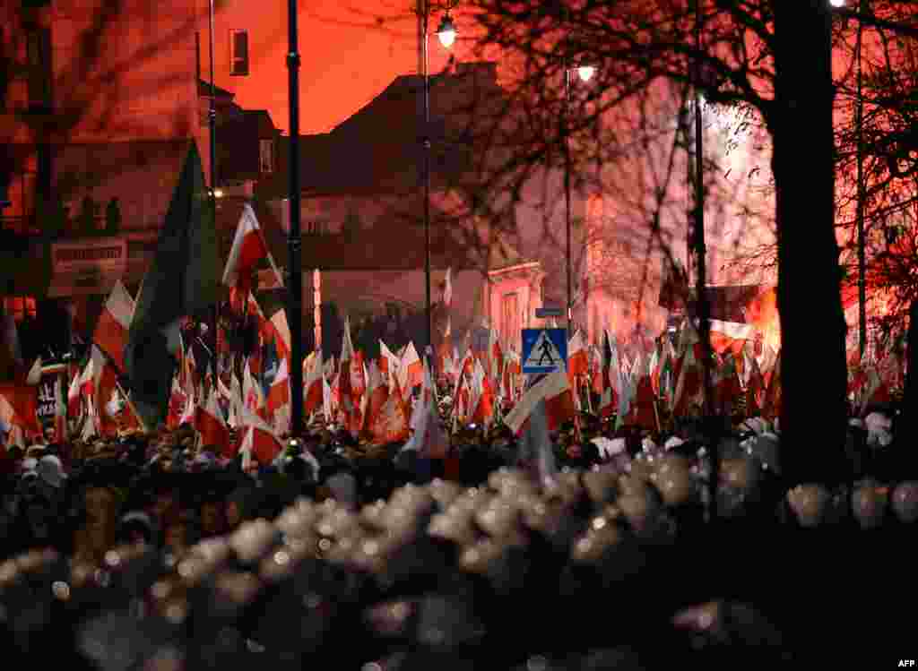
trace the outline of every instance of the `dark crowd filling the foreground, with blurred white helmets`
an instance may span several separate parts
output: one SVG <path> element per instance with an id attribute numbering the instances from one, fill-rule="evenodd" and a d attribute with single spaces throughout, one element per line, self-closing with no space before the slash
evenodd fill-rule
<path id="1" fill-rule="evenodd" d="M 760 418 L 712 439 L 582 412 L 548 472 L 499 422 L 425 459 L 318 420 L 248 471 L 187 425 L 30 441 L 0 460 L 0 637 L 112 671 L 725 667 L 899 643 L 918 473 L 897 413 L 852 420 L 847 486 L 789 491 Z"/>

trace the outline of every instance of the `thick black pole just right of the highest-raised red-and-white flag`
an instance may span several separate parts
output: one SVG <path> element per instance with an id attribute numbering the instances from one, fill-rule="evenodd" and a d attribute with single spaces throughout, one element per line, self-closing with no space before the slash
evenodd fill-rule
<path id="1" fill-rule="evenodd" d="M 300 259 L 299 191 L 299 45 L 297 0 L 287 0 L 287 71 L 290 106 L 290 151 L 287 171 L 290 177 L 290 230 L 287 235 L 287 323 L 290 327 L 290 432 L 303 435 L 303 263 Z"/>

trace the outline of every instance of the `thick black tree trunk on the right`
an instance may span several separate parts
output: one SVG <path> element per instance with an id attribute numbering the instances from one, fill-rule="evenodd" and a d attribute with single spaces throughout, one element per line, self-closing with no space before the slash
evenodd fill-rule
<path id="1" fill-rule="evenodd" d="M 830 6 L 774 4 L 781 461 L 789 484 L 845 479 L 845 317 L 834 231 Z"/>

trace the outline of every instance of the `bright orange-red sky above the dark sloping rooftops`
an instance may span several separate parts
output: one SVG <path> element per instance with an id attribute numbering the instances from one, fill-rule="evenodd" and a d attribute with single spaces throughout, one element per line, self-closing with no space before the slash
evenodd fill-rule
<path id="1" fill-rule="evenodd" d="M 251 0 L 220 4 L 216 19 L 217 83 L 236 94 L 246 108 L 266 108 L 274 124 L 287 129 L 287 20 L 285 3 L 263 2 L 252 13 Z M 299 13 L 300 132 L 330 130 L 369 103 L 399 74 L 417 70 L 416 19 L 409 0 L 301 0 Z M 431 17 L 431 73 L 449 58 L 432 32 L 442 15 Z M 375 26 L 377 17 L 386 20 Z M 462 30 L 461 19 L 459 21 Z M 251 73 L 229 76 L 229 30 L 249 31 Z M 456 40 L 453 53 L 470 60 L 468 48 Z M 202 35 L 202 73 L 207 77 L 207 36 Z"/>

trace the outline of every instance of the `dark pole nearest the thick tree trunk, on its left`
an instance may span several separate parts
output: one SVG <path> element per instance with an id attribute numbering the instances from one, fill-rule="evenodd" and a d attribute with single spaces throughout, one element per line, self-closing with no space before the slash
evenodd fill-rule
<path id="1" fill-rule="evenodd" d="M 713 394 L 711 390 L 711 309 L 708 305 L 706 293 L 707 280 L 707 249 L 704 240 L 704 124 L 703 101 L 701 99 L 701 0 L 695 0 L 695 255 L 697 274 L 695 276 L 695 305 L 699 318 L 699 337 L 701 352 L 704 360 L 701 362 L 702 384 L 704 387 L 704 408 L 702 417 L 705 420 L 706 430 L 714 429 L 711 421 L 713 412 Z M 710 519 L 717 517 L 717 490 L 720 479 L 720 464 L 717 453 L 717 436 L 709 436 L 711 440 L 711 475 L 709 480 L 710 494 Z"/>

